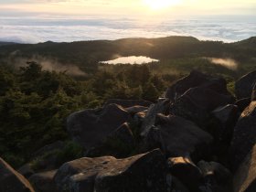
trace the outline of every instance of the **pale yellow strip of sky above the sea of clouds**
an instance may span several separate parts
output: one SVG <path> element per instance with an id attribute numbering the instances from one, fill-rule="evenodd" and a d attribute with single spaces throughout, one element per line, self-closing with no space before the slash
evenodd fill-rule
<path id="1" fill-rule="evenodd" d="M 0 0 L 0 15 L 256 15 L 255 0 Z"/>

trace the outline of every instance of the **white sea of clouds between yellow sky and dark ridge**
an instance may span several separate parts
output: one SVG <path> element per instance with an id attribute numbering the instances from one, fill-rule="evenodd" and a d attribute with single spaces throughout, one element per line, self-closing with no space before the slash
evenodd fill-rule
<path id="1" fill-rule="evenodd" d="M 0 16 L 0 41 L 71 42 L 123 37 L 193 36 L 233 42 L 256 36 L 256 20 L 221 16 L 158 20 L 140 18 L 63 18 Z"/>

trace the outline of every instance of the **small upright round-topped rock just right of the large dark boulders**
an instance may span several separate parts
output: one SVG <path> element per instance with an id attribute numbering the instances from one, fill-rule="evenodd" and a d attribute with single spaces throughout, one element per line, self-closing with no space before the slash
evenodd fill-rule
<path id="1" fill-rule="evenodd" d="M 229 144 L 232 139 L 233 129 L 239 118 L 239 110 L 236 105 L 228 104 L 217 108 L 212 112 L 218 120 L 219 126 L 215 126 L 213 135 L 223 144 Z"/>

